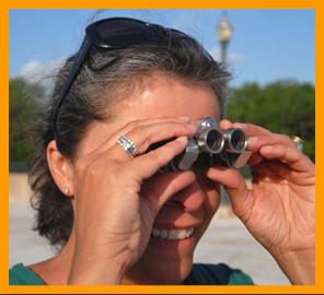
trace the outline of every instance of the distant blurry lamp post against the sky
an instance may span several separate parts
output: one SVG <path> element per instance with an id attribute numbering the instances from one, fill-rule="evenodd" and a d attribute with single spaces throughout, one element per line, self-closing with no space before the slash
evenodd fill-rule
<path id="1" fill-rule="evenodd" d="M 229 21 L 228 14 L 224 11 L 217 28 L 217 37 L 220 44 L 220 61 L 224 68 L 228 67 L 228 45 L 233 34 L 232 25 Z"/>

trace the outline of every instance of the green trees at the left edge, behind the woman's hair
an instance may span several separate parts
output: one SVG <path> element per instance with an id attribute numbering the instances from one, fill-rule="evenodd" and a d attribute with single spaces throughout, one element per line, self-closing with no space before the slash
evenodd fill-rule
<path id="1" fill-rule="evenodd" d="M 9 161 L 11 170 L 24 170 L 34 151 L 28 141 L 27 127 L 37 119 L 44 97 L 40 85 L 27 83 L 22 78 L 9 81 Z"/>

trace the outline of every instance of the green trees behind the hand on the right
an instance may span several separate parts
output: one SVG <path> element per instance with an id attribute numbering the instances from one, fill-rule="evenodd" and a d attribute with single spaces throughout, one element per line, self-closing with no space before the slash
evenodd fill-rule
<path id="1" fill-rule="evenodd" d="M 228 118 L 252 122 L 274 132 L 297 134 L 304 140 L 304 153 L 315 161 L 315 90 L 292 80 L 265 86 L 248 83 L 233 90 Z"/>

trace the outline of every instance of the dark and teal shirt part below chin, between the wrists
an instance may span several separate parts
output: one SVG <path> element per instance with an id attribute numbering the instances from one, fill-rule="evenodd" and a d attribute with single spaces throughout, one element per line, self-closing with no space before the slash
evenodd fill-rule
<path id="1" fill-rule="evenodd" d="M 250 275 L 224 263 L 194 263 L 187 285 L 254 285 Z"/>

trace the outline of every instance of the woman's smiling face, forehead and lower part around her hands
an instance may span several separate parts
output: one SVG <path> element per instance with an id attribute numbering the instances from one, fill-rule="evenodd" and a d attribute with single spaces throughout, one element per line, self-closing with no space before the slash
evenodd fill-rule
<path id="1" fill-rule="evenodd" d="M 196 123 L 202 117 L 219 119 L 217 97 L 209 88 L 185 84 L 178 79 L 158 73 L 141 82 L 140 87 L 118 103 L 114 109 L 114 118 L 90 127 L 79 154 L 96 149 L 109 134 L 132 120 L 187 116 L 192 123 Z M 194 173 L 197 180 L 164 204 L 153 225 L 159 231 L 167 232 L 188 232 L 194 228 L 193 236 L 183 239 L 151 236 L 144 253 L 125 275 L 124 283 L 140 281 L 175 284 L 181 283 L 190 272 L 194 249 L 220 202 L 217 186 L 207 180 L 204 172 Z"/>

